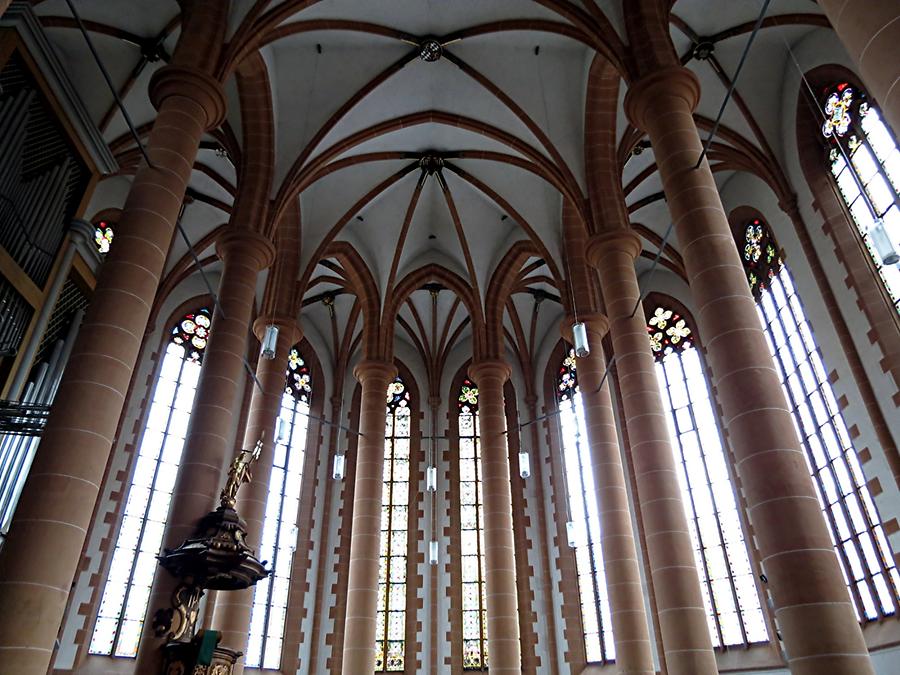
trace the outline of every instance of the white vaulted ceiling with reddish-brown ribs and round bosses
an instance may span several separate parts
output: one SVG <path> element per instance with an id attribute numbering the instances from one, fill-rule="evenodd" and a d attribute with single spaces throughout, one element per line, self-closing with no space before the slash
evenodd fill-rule
<path id="1" fill-rule="evenodd" d="M 401 303 L 397 339 L 418 351 L 426 367 L 439 365 L 468 339 L 473 317 L 467 303 L 480 298 L 483 305 L 494 271 L 516 246 L 526 253 L 507 306 L 510 346 L 529 360 L 545 340 L 557 338 L 557 300 L 566 293 L 561 190 L 586 199 L 588 74 L 598 53 L 627 60 L 627 1 L 232 1 L 231 47 L 245 58 L 258 51 L 268 78 L 271 197 L 299 200 L 302 321 L 315 327 L 332 357 L 352 350 L 360 328 L 352 284 L 326 251 L 332 241 L 359 252 L 383 302 Z M 121 206 L 139 157 L 125 120 L 64 0 L 32 4 L 120 159 L 121 173 L 100 183 L 92 208 Z M 144 133 L 154 117 L 148 82 L 172 54 L 179 5 L 130 2 L 123 11 L 124 4 L 79 0 L 77 7 Z M 703 133 L 725 98 L 760 7 L 758 0 L 673 3 L 672 40 L 703 88 L 696 113 Z M 771 101 L 781 97 L 784 73 L 793 67 L 787 47 L 826 30 L 812 0 L 773 3 L 710 154 L 720 186 L 735 171 L 784 181 L 783 116 Z M 440 47 L 428 45 L 423 54 L 429 39 Z M 204 141 L 184 217 L 210 270 L 218 265 L 210 233 L 229 218 L 247 143 L 234 77 L 226 89 L 227 122 Z M 623 84 L 620 99 L 624 90 Z M 644 237 L 640 265 L 646 269 L 668 214 L 652 148 L 641 143 L 624 112 L 616 124 L 619 171 L 632 221 Z M 678 273 L 672 244 L 663 264 Z M 455 275 L 469 297 L 435 293 L 439 287 L 428 283 L 449 285 L 423 268 Z M 181 241 L 169 270 L 178 278 L 193 271 Z M 414 281 L 407 284 L 408 297 L 394 297 L 407 278 Z"/>

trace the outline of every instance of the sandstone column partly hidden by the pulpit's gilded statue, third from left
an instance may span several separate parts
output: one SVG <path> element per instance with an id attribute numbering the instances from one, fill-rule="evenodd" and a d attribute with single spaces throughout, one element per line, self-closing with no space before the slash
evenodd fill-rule
<path id="1" fill-rule="evenodd" d="M 256 379 L 250 397 L 250 413 L 244 433 L 243 447 L 251 448 L 263 438 L 263 449 L 253 471 L 253 480 L 238 493 L 235 509 L 247 523 L 247 544 L 258 551 L 262 537 L 263 519 L 269 497 L 269 481 L 272 477 L 272 463 L 275 460 L 276 422 L 281 412 L 281 398 L 284 395 L 285 371 L 288 353 L 300 339 L 297 322 L 288 316 L 260 317 L 254 323 L 256 337 L 262 342 L 267 325 L 278 326 L 278 341 L 275 358 L 260 357 L 256 365 Z M 250 630 L 250 610 L 253 606 L 253 588 L 232 593 L 220 592 L 216 602 L 213 628 L 222 632 L 222 644 L 242 651 L 247 648 Z M 244 662 L 238 661 L 234 674 L 244 671 Z"/>

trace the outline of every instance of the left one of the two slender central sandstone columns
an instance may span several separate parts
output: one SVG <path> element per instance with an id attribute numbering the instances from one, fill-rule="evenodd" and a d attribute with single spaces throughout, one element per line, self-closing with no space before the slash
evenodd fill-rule
<path id="1" fill-rule="evenodd" d="M 353 526 L 350 531 L 343 672 L 347 675 L 371 675 L 375 668 L 386 396 L 388 384 L 397 375 L 397 368 L 386 361 L 367 360 L 357 365 L 353 373 L 362 385 L 362 396 L 360 437 L 356 447 Z"/>

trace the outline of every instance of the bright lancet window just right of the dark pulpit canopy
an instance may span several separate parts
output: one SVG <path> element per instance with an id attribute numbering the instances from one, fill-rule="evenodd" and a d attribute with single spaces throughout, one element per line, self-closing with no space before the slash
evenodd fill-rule
<path id="1" fill-rule="evenodd" d="M 253 592 L 246 657 L 250 668 L 277 670 L 281 667 L 291 565 L 297 548 L 297 511 L 300 508 L 311 395 L 309 367 L 294 347 L 288 355 L 275 457 L 258 551 L 259 559 L 267 560 L 274 572 L 256 584 Z"/>

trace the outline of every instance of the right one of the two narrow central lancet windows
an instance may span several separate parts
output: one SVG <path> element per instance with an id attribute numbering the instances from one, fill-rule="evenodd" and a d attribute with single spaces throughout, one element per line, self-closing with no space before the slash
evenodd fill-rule
<path id="1" fill-rule="evenodd" d="M 481 430 L 478 387 L 463 380 L 459 416 L 459 515 L 462 566 L 463 669 L 488 667 L 487 602 L 484 592 L 484 495 L 481 487 Z"/>

